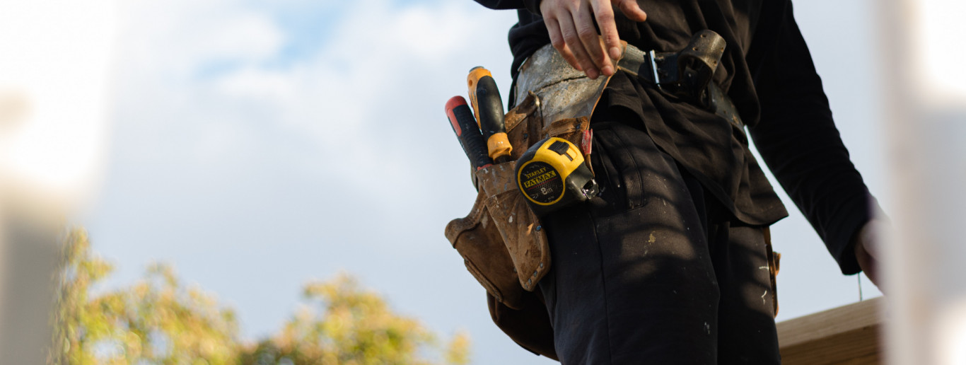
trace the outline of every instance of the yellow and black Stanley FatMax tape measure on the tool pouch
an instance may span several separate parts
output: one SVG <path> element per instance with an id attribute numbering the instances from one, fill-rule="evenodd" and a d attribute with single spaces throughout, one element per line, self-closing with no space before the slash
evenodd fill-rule
<path id="1" fill-rule="evenodd" d="M 583 163 L 581 150 L 557 137 L 537 142 L 517 160 L 517 187 L 539 216 L 597 194 L 594 174 Z"/>

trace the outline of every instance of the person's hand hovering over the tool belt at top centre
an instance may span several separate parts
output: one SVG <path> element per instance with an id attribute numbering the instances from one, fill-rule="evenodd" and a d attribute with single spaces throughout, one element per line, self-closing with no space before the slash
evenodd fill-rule
<path id="1" fill-rule="evenodd" d="M 540 13 L 554 48 L 570 66 L 582 70 L 587 77 L 597 78 L 601 73 L 612 75 L 611 59 L 620 57 L 614 7 L 631 20 L 647 18 L 636 0 L 542 0 L 540 3 Z M 594 29 L 595 18 L 603 44 Z"/>

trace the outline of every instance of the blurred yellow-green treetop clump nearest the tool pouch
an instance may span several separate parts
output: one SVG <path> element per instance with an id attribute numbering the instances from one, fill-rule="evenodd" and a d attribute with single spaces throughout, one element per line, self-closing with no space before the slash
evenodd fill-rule
<path id="1" fill-rule="evenodd" d="M 271 339 L 241 358 L 242 364 L 432 364 L 420 348 L 435 347 L 436 337 L 416 320 L 393 314 L 379 295 L 360 290 L 340 274 L 329 282 L 305 286 L 307 305 Z M 457 335 L 445 362 L 465 364 L 469 342 Z"/>

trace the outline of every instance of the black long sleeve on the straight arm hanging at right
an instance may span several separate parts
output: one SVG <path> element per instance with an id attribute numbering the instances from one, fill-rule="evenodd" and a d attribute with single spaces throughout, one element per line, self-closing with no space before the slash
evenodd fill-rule
<path id="1" fill-rule="evenodd" d="M 871 218 L 874 200 L 842 144 L 790 3 L 769 36 L 757 40 L 767 42 L 761 58 L 750 60 L 760 63 L 753 75 L 761 108 L 751 128 L 754 144 L 842 273 L 856 273 L 851 240 Z"/>

